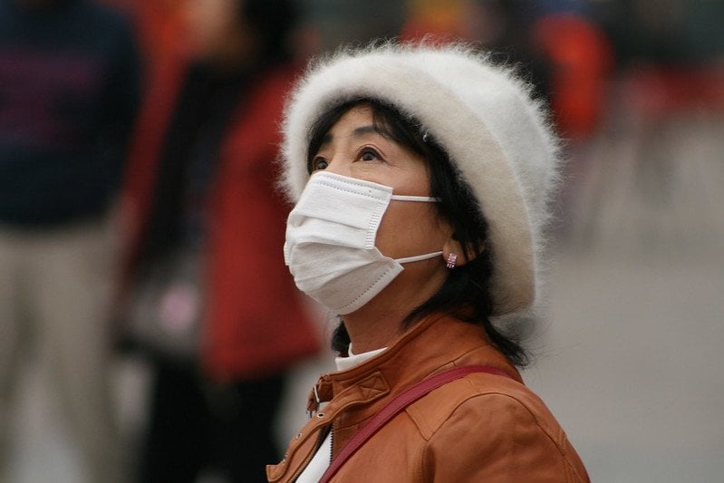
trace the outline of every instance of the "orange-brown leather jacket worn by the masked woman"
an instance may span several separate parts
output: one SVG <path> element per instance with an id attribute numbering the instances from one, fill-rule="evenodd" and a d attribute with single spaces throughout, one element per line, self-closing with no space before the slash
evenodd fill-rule
<path id="1" fill-rule="evenodd" d="M 349 371 L 323 375 L 315 411 L 269 481 L 294 481 L 327 430 L 333 456 L 402 390 L 455 366 L 487 365 L 512 379 L 477 372 L 431 391 L 395 416 L 348 459 L 335 482 L 585 482 L 581 459 L 553 415 L 482 329 L 436 315 L 384 353 Z M 316 397 L 329 401 L 317 408 Z"/>

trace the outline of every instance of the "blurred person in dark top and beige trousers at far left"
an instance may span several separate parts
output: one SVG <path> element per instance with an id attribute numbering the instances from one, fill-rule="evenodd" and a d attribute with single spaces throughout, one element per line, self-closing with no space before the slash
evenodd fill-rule
<path id="1" fill-rule="evenodd" d="M 130 25 L 111 9 L 0 1 L 0 473 L 33 342 L 90 480 L 120 478 L 108 377 L 110 213 L 138 69 Z"/>

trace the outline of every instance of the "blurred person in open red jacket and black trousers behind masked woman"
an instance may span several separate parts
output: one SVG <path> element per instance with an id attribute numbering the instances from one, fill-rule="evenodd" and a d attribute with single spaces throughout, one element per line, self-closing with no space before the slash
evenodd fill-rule
<path id="1" fill-rule="evenodd" d="M 185 0 L 124 190 L 130 343 L 149 356 L 140 481 L 264 479 L 285 372 L 318 351 L 287 273 L 278 121 L 291 0 Z"/>

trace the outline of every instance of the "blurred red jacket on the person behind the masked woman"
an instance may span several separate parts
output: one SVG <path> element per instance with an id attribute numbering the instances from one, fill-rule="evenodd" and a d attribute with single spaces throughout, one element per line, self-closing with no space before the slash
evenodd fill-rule
<path id="1" fill-rule="evenodd" d="M 124 284 L 138 260 L 150 217 L 160 151 L 188 65 L 167 56 L 152 72 L 130 151 L 121 202 Z M 208 310 L 201 361 L 219 381 L 284 370 L 319 350 L 319 333 L 284 264 L 290 207 L 275 189 L 278 122 L 297 70 L 281 67 L 256 77 L 232 115 L 209 189 Z"/>

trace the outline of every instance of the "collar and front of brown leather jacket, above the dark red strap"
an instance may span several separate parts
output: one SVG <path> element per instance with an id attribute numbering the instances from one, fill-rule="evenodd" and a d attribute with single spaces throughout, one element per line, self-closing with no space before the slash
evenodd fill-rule
<path id="1" fill-rule="evenodd" d="M 403 333 L 390 348 L 347 371 L 320 377 L 309 396 L 310 420 L 292 440 L 285 459 L 267 469 L 270 481 L 297 475 L 333 428 L 333 455 L 362 424 L 401 391 L 452 367 L 483 364 L 522 382 L 516 368 L 482 327 L 448 315 L 431 315 Z M 323 405 L 323 403 L 326 403 Z"/>

